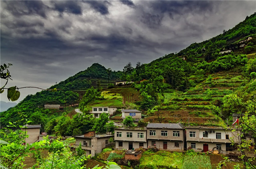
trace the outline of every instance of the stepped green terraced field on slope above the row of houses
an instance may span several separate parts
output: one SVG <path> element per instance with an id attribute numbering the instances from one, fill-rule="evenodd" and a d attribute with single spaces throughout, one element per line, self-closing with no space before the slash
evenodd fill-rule
<path id="1" fill-rule="evenodd" d="M 225 95 L 231 94 L 243 82 L 241 72 L 219 72 L 205 76 L 191 76 L 189 80 L 198 83 L 184 93 L 164 93 L 162 106 L 157 107 L 145 122 L 190 123 L 194 125 L 220 125 L 218 107 Z"/>

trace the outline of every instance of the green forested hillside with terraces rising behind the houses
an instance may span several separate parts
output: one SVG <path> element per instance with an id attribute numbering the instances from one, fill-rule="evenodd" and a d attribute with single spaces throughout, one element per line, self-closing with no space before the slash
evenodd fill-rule
<path id="1" fill-rule="evenodd" d="M 247 41 L 240 43 L 242 40 Z M 220 53 L 224 50 L 230 51 Z M 252 97 L 256 83 L 255 52 L 256 14 L 252 14 L 223 34 L 191 44 L 178 54 L 168 54 L 149 64 L 138 62 L 133 68 L 128 63 L 123 72 L 93 64 L 50 87 L 62 89 L 66 97 L 63 91 L 28 95 L 15 107 L 1 112 L 1 123 L 6 126 L 8 121 L 18 121 L 23 125 L 20 121 L 23 115 L 31 124 L 41 124 L 42 130 L 48 133 L 72 135 L 91 128 L 100 132 L 105 128 L 100 129 L 99 121 L 87 113 L 92 105 L 111 105 L 142 110 L 146 115 L 143 122 L 220 125 L 226 118 L 231 121 L 232 113 L 237 111 L 233 97 L 239 97 L 244 111 L 252 111 L 249 107 L 255 105 L 255 97 Z M 114 86 L 116 80 L 134 83 Z M 82 91 L 80 97 L 79 91 Z M 80 117 L 74 112 L 78 106 L 68 107 L 67 112 L 43 108 L 44 104 L 64 106 L 65 101 L 67 105 L 80 103 L 86 116 Z"/>

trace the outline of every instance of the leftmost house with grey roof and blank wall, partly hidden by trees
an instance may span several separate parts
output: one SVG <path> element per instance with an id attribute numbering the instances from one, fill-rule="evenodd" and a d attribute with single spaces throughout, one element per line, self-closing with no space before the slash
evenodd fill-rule
<path id="1" fill-rule="evenodd" d="M 41 125 L 23 125 L 21 128 L 22 131 L 26 131 L 28 138 L 25 139 L 26 144 L 35 143 L 39 141 Z"/>

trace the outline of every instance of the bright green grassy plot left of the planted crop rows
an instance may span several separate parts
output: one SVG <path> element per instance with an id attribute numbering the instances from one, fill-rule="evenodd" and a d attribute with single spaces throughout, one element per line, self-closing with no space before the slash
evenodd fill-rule
<path id="1" fill-rule="evenodd" d="M 183 153 L 158 151 L 156 153 L 148 150 L 142 154 L 140 169 L 169 169 L 182 167 Z"/>

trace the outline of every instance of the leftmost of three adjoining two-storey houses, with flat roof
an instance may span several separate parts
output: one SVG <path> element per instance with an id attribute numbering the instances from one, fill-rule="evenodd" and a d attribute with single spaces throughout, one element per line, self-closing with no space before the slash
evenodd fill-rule
<path id="1" fill-rule="evenodd" d="M 115 129 L 116 149 L 147 148 L 146 128 L 122 127 Z"/>

